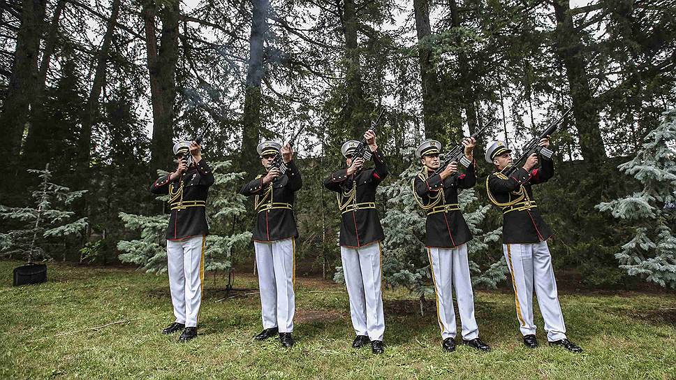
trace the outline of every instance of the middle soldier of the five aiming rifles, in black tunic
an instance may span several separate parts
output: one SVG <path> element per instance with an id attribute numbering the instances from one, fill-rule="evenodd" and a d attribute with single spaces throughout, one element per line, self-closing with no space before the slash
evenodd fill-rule
<path id="1" fill-rule="evenodd" d="M 362 168 L 365 160 L 353 157 L 360 142 L 351 140 L 341 147 L 346 169 L 324 180 L 324 186 L 337 194 L 341 212 L 340 256 L 350 299 L 350 314 L 357 349 L 371 343 L 373 353 L 383 353 L 385 317 L 381 292 L 381 240 L 385 238 L 376 212 L 376 187 L 387 177 L 388 168 L 376 145 L 376 134 L 364 134 L 375 168 Z"/>

